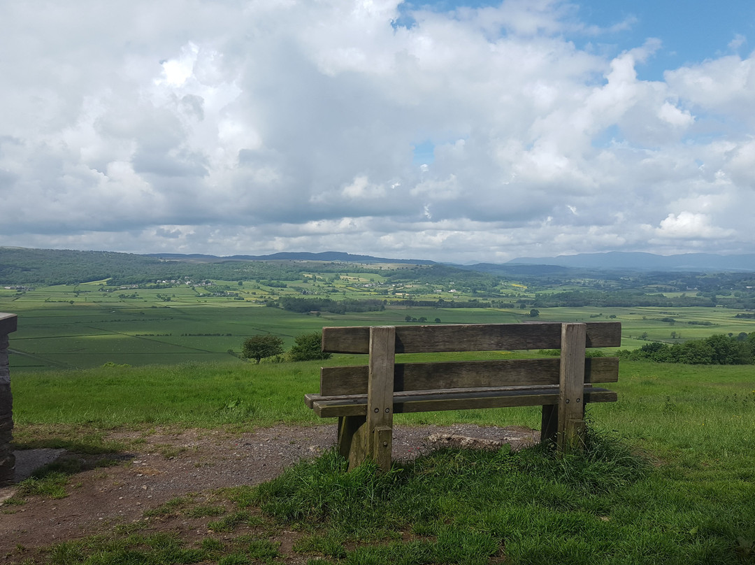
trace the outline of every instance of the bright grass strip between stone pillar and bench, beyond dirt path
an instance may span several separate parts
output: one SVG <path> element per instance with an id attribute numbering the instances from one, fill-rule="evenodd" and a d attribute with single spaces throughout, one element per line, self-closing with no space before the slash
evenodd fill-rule
<path id="1" fill-rule="evenodd" d="M 24 425 L 251 428 L 315 421 L 304 394 L 317 363 L 181 363 L 14 375 L 14 420 Z"/>

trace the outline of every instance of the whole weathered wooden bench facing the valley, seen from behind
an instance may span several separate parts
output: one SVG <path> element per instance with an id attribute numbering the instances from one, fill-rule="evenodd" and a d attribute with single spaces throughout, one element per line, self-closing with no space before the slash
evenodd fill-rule
<path id="1" fill-rule="evenodd" d="M 323 328 L 323 351 L 369 354 L 369 364 L 323 367 L 319 394 L 305 402 L 338 418 L 350 468 L 367 458 L 390 468 L 393 414 L 402 412 L 542 406 L 541 440 L 579 449 L 584 404 L 616 400 L 593 384 L 618 381 L 618 358 L 586 358 L 585 348 L 620 344 L 614 322 Z M 540 349 L 560 349 L 560 358 L 395 362 L 402 353 Z"/>

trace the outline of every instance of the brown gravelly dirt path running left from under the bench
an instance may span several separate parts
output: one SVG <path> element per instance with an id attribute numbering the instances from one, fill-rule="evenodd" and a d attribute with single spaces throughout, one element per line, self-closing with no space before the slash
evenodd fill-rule
<path id="1" fill-rule="evenodd" d="M 441 437 L 429 441 L 433 434 Z M 397 426 L 393 458 L 412 458 L 433 446 L 447 444 L 451 436 L 475 438 L 482 443 L 511 443 L 516 448 L 533 443 L 536 434 L 527 428 L 476 425 Z M 329 424 L 277 425 L 245 434 L 158 430 L 147 437 L 116 431 L 106 439 L 128 446 L 127 452 L 119 454 L 121 462 L 72 475 L 66 498 L 31 496 L 23 505 L 0 505 L 0 563 L 33 548 L 142 520 L 145 511 L 177 496 L 191 492 L 211 496 L 212 490 L 220 487 L 270 480 L 300 459 L 312 458 L 333 446 L 336 429 Z M 66 456 L 49 451 L 48 457 Z M 15 489 L 0 488 L 0 500 L 8 499 Z"/>

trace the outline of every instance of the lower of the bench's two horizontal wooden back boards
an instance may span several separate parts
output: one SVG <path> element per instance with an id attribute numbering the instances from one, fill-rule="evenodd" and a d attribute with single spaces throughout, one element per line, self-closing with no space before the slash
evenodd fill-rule
<path id="1" fill-rule="evenodd" d="M 368 367 L 323 367 L 320 394 L 367 394 Z M 594 357 L 584 364 L 586 383 L 618 381 L 617 357 Z M 397 363 L 393 391 L 439 388 L 516 387 L 559 384 L 559 359 L 513 359 Z"/>

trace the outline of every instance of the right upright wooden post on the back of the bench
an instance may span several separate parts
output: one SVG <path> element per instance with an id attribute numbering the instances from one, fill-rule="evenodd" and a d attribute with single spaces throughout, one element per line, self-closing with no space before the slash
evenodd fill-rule
<path id="1" fill-rule="evenodd" d="M 584 446 L 584 347 L 586 326 L 565 323 L 561 333 L 561 378 L 559 383 L 559 451 Z"/>

